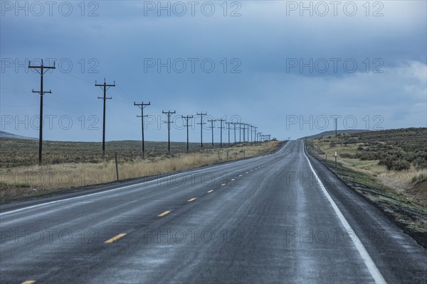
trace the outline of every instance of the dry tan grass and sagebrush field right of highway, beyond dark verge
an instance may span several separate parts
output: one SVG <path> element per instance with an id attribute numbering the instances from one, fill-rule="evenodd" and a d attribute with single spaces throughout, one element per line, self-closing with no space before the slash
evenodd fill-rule
<path id="1" fill-rule="evenodd" d="M 320 158 L 369 175 L 427 207 L 427 129 L 397 129 L 326 136 L 313 141 Z"/>

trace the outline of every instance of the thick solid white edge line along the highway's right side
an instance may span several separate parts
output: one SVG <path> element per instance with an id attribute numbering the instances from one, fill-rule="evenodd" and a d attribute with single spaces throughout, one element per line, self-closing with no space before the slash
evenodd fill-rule
<path id="1" fill-rule="evenodd" d="M 302 153 L 304 153 L 305 155 L 304 143 L 302 143 Z M 312 164 L 310 163 L 310 160 L 308 159 L 307 155 L 305 155 L 305 158 L 307 159 L 308 165 L 310 165 L 310 169 L 315 174 L 315 178 L 319 183 L 319 186 L 322 189 L 322 192 L 325 194 L 327 200 L 330 202 L 330 204 L 332 205 L 332 208 L 334 209 L 339 220 L 341 221 L 342 226 L 344 226 L 344 229 L 346 229 L 347 231 L 352 231 L 354 233 L 355 241 L 353 242 L 353 244 L 354 246 L 356 246 L 357 251 L 359 251 L 360 256 L 362 256 L 362 259 L 365 265 L 367 266 L 369 273 L 371 273 L 372 278 L 374 278 L 375 283 L 386 283 L 386 280 L 384 279 L 383 275 L 381 275 L 381 272 L 379 272 L 371 256 L 369 256 L 367 249 L 365 249 L 365 247 L 362 244 L 362 241 L 360 241 L 359 236 L 357 236 L 356 232 L 352 229 L 349 222 L 347 222 L 347 219 L 345 219 L 344 215 L 341 213 L 341 211 L 337 207 L 337 204 L 335 204 L 334 200 L 332 200 L 332 197 L 327 192 L 320 178 L 317 176 L 315 169 L 312 167 Z"/>

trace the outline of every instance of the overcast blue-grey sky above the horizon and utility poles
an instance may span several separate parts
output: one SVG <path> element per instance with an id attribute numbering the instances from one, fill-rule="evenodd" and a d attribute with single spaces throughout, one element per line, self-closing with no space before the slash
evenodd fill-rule
<path id="1" fill-rule="evenodd" d="M 102 141 L 220 139 L 243 122 L 285 140 L 427 127 L 426 1 L 0 1 L 1 131 Z M 231 126 L 233 127 L 233 126 Z M 223 130 L 227 141 L 228 130 Z M 231 128 L 231 141 L 233 129 Z"/>

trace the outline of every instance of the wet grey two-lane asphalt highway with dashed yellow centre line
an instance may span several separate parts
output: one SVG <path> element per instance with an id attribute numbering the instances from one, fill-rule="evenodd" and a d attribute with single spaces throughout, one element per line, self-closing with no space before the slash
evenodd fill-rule
<path id="1" fill-rule="evenodd" d="M 426 283 L 427 253 L 290 141 L 0 209 L 0 282 Z"/>

